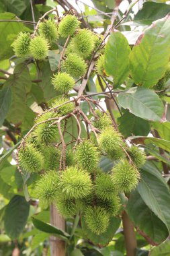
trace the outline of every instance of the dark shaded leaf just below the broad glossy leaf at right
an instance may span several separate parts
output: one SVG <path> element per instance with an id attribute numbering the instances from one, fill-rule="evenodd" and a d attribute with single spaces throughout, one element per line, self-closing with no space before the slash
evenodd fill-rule
<path id="1" fill-rule="evenodd" d="M 148 135 L 150 131 L 150 125 L 148 121 L 136 117 L 128 110 L 125 110 L 124 114 L 118 118 L 119 130 L 125 136 L 128 137 L 134 135 Z"/>

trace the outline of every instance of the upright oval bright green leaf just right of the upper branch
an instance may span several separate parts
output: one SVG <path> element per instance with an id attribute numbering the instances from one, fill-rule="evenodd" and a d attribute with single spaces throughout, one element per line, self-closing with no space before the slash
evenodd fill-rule
<path id="1" fill-rule="evenodd" d="M 120 86 L 129 73 L 130 46 L 121 32 L 114 32 L 105 46 L 105 71 L 114 77 L 114 86 Z"/>

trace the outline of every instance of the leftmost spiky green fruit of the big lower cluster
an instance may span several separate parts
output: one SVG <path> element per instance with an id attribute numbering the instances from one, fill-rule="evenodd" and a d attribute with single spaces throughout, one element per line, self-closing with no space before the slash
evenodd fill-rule
<path id="1" fill-rule="evenodd" d="M 40 172 L 43 168 L 44 158 L 34 144 L 28 143 L 21 148 L 18 158 L 20 166 L 27 172 Z"/>

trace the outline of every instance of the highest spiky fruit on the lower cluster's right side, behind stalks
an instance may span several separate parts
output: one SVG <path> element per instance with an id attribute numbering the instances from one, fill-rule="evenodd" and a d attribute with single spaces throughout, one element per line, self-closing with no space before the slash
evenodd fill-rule
<path id="1" fill-rule="evenodd" d="M 93 117 L 93 126 L 99 130 L 107 127 L 112 127 L 112 121 L 109 115 L 102 113 L 100 110 L 95 110 L 95 117 Z"/>

